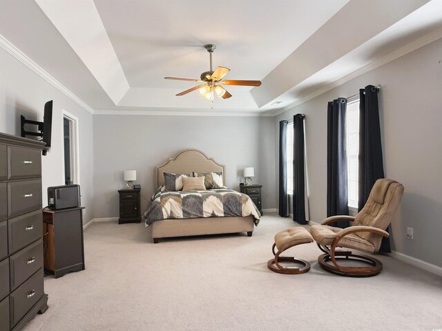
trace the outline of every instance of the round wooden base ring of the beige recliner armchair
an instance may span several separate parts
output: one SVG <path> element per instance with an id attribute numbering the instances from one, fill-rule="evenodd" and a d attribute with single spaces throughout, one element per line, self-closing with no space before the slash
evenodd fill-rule
<path id="1" fill-rule="evenodd" d="M 339 276 L 345 277 L 373 277 L 379 274 L 382 270 L 382 263 L 378 259 L 373 257 L 367 257 L 366 255 L 353 254 L 352 252 L 343 252 L 343 254 L 338 254 L 336 252 L 335 259 L 336 263 L 343 260 L 352 260 L 367 263 L 372 265 L 372 267 L 336 267 L 333 263 L 327 263 L 332 260 L 330 254 L 322 254 L 318 257 L 318 263 L 327 272 L 332 274 L 338 274 Z"/>

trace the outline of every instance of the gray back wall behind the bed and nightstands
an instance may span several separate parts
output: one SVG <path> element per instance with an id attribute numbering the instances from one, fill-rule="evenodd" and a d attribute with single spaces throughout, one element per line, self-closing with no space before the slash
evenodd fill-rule
<path id="1" fill-rule="evenodd" d="M 196 148 L 226 165 L 226 183 L 239 190 L 244 167 L 255 168 L 263 208 L 276 208 L 273 118 L 94 115 L 95 217 L 117 217 L 124 170 L 137 170 L 142 210 L 153 194 L 154 168 Z"/>

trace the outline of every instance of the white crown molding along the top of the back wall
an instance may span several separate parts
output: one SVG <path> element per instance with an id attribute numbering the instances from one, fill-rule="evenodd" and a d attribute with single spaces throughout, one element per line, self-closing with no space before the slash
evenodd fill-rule
<path id="1" fill-rule="evenodd" d="M 95 110 L 94 115 L 151 115 L 151 116 L 213 116 L 213 117 L 273 117 L 262 112 L 204 112 L 171 110 Z"/>

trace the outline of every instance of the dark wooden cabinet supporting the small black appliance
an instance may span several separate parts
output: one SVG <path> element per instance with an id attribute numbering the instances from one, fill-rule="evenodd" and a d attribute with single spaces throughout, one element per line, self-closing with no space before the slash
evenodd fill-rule
<path id="1" fill-rule="evenodd" d="M 44 268 L 55 278 L 84 270 L 84 207 L 43 210 Z"/>

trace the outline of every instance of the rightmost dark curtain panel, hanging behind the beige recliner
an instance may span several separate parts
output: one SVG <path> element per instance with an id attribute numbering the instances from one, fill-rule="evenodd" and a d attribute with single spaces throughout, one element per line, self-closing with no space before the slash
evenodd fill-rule
<path id="1" fill-rule="evenodd" d="M 378 89 L 372 85 L 359 90 L 359 183 L 358 210 L 364 207 L 374 182 L 384 178 Z M 389 229 L 387 229 L 388 231 Z M 383 238 L 379 252 L 391 252 L 390 239 Z"/>

